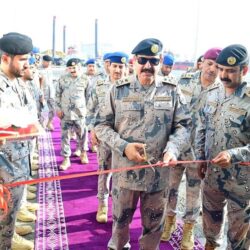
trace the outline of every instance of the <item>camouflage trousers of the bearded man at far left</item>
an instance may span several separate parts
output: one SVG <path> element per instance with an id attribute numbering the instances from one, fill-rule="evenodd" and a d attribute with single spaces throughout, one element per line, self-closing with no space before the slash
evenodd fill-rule
<path id="1" fill-rule="evenodd" d="M 26 177 L 15 178 L 9 175 L 4 169 L 0 169 L 0 182 L 9 183 L 16 181 L 26 180 Z M 20 202 L 23 196 L 24 186 L 17 186 L 10 189 L 11 199 L 8 203 L 7 215 L 3 216 L 2 212 L 0 216 L 0 249 L 11 249 L 11 241 L 15 230 L 16 213 L 19 210 Z"/>

